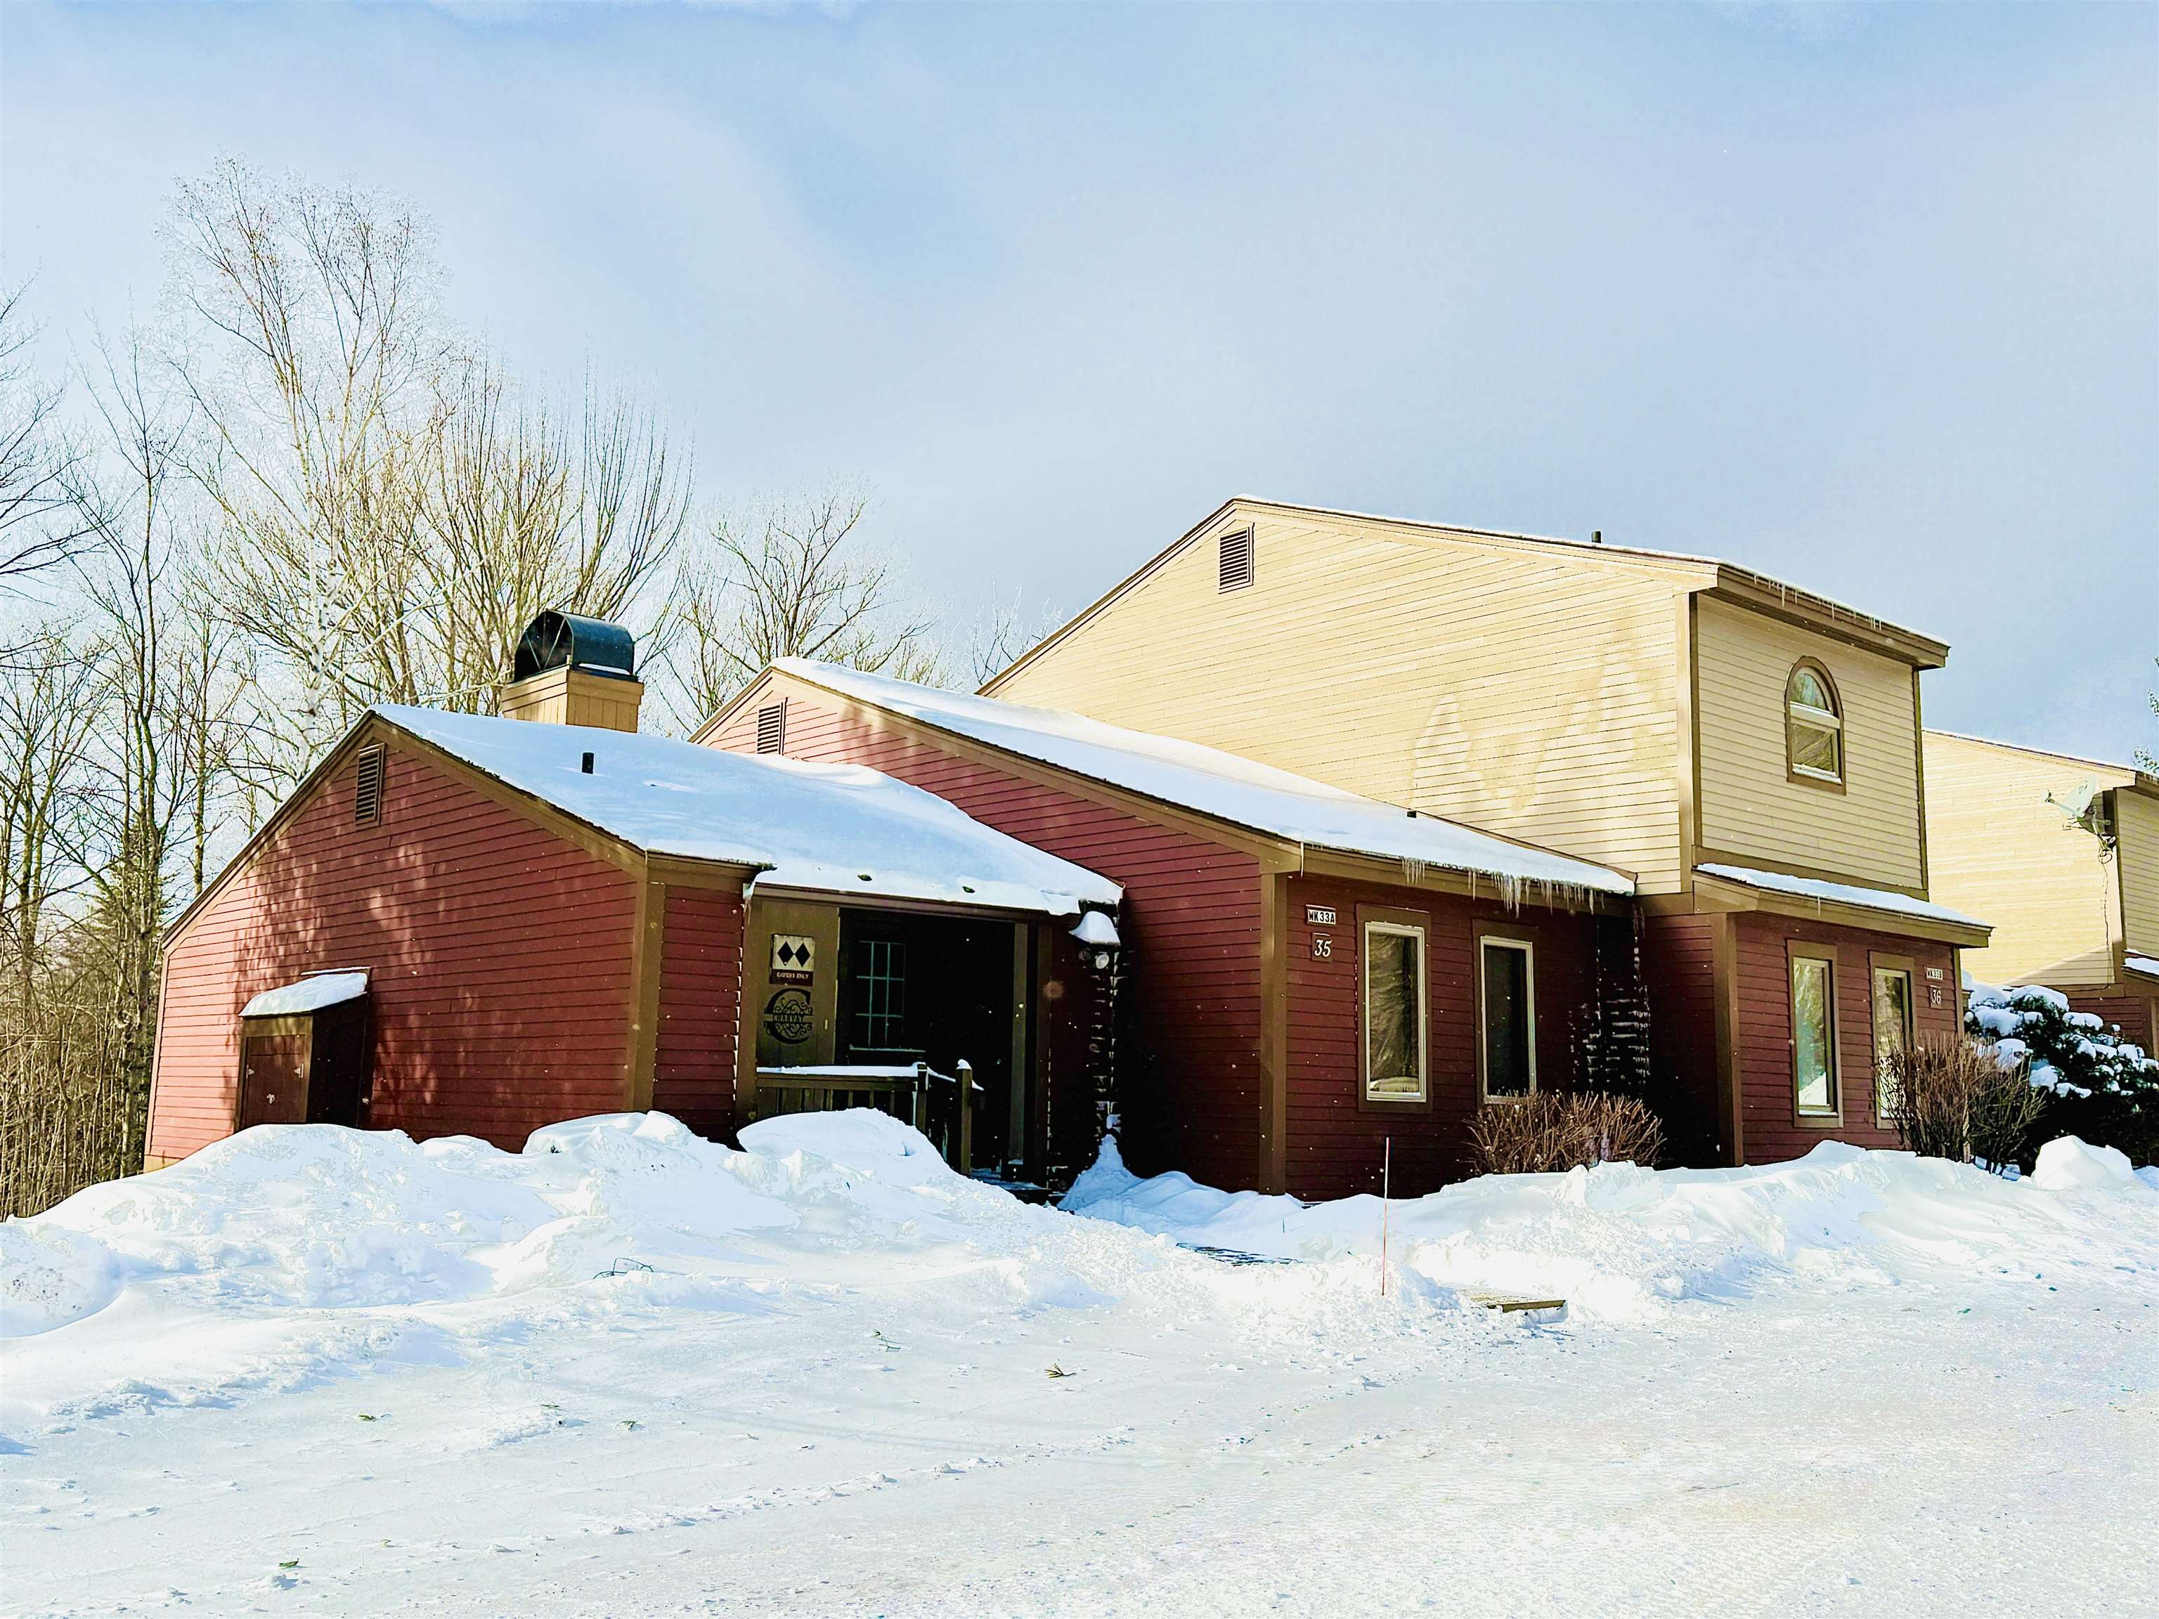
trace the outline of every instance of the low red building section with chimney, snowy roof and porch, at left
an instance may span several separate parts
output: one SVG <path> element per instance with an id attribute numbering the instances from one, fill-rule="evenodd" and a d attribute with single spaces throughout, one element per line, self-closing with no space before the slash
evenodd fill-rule
<path id="1" fill-rule="evenodd" d="M 516 1148 L 848 1103 L 959 1155 L 963 1062 L 972 1168 L 1086 1151 L 1108 952 L 1071 935 L 1114 939 L 1116 883 L 874 771 L 615 730 L 626 669 L 563 648 L 503 706 L 570 723 L 378 708 L 330 751 L 168 933 L 151 1166 L 255 1123 Z"/>

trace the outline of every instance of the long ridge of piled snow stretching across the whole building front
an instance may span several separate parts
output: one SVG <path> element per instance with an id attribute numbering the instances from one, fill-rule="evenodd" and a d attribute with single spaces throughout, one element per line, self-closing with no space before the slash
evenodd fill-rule
<path id="1" fill-rule="evenodd" d="M 1790 1274 L 1872 1284 L 2038 1261 L 2159 1274 L 2153 1181 L 2073 1138 L 2023 1183 L 1842 1144 L 1747 1170 L 1485 1176 L 1390 1207 L 1397 1287 L 1367 1304 L 1377 1198 L 1304 1205 L 1183 1174 L 1142 1181 L 1114 1142 L 1056 1211 L 954 1174 L 874 1112 L 764 1120 L 743 1151 L 667 1114 L 555 1125 L 522 1153 L 266 1127 L 0 1224 L 0 1334 L 65 1328 L 130 1289 L 212 1312 L 458 1304 L 624 1276 L 656 1300 L 695 1302 L 710 1284 L 738 1300 L 836 1254 L 892 1276 L 965 1271 L 993 1308 L 1136 1291 L 1174 1308 L 1179 1289 L 1200 1289 L 1285 1328 L 1349 1310 L 1395 1330 L 1403 1310 L 1503 1291 L 1626 1321 Z M 1233 1267 L 1194 1248 L 1302 1263 Z"/>

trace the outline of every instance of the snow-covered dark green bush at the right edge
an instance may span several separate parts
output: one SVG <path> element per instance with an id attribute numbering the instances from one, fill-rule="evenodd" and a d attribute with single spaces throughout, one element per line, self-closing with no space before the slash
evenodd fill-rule
<path id="1" fill-rule="evenodd" d="M 1993 1043 L 2006 1066 L 2045 1092 L 2045 1133 L 2118 1146 L 2159 1159 L 2159 1062 L 2124 1040 L 2120 1025 L 2075 1012 L 2040 984 L 1971 991 L 1965 1032 Z"/>

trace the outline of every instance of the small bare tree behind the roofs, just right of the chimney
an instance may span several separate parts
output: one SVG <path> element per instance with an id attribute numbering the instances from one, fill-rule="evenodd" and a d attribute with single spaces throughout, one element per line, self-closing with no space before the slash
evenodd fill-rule
<path id="1" fill-rule="evenodd" d="M 773 658 L 823 658 L 937 680 L 931 620 L 900 600 L 894 566 L 861 546 L 866 501 L 825 492 L 721 518 L 676 585 L 671 661 L 687 717 L 717 710 Z"/>

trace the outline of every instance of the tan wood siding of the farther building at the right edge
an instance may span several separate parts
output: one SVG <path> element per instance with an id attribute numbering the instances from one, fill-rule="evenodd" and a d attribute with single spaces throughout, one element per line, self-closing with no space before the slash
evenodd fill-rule
<path id="1" fill-rule="evenodd" d="M 2077 760 L 1926 734 L 1928 889 L 1993 924 L 1988 945 L 1965 952 L 1978 982 L 2112 982 L 2112 874 L 2099 840 L 2047 803 L 2068 801 L 2083 781 L 2105 786 Z"/>

